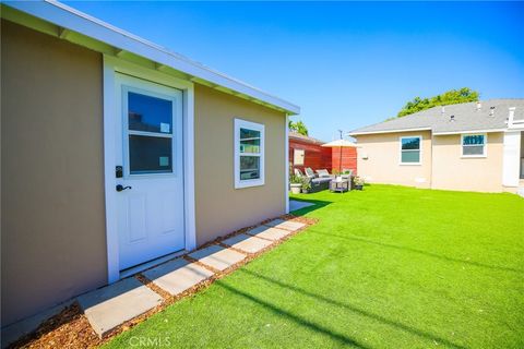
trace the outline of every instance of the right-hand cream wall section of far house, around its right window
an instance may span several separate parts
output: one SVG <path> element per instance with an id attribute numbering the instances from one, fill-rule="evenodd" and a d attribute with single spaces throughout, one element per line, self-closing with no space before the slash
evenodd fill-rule
<path id="1" fill-rule="evenodd" d="M 502 191 L 503 133 L 488 133 L 487 156 L 462 157 L 461 135 L 433 136 L 432 186 L 434 189 Z"/>

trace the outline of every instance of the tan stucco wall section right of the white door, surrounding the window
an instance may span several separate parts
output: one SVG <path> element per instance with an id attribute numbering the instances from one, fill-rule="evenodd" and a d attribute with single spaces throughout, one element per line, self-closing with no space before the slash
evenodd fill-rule
<path id="1" fill-rule="evenodd" d="M 196 242 L 285 213 L 285 115 L 195 85 Z M 234 119 L 265 125 L 265 184 L 235 189 Z"/>

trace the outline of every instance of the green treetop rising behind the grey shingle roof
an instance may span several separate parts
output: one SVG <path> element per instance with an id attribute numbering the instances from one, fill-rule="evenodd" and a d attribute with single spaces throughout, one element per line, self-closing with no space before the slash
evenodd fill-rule
<path id="1" fill-rule="evenodd" d="M 426 110 L 436 106 L 449 106 L 456 105 L 460 103 L 475 101 L 478 100 L 480 94 L 476 91 L 473 91 L 469 87 L 462 87 L 460 89 L 450 89 L 431 98 L 420 98 L 415 97 L 413 100 L 406 103 L 406 105 L 398 111 L 396 115 L 397 118 L 404 116 Z"/>

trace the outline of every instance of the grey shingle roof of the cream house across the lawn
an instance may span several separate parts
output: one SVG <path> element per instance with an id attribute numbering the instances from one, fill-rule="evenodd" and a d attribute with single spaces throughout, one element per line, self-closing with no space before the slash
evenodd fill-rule
<path id="1" fill-rule="evenodd" d="M 507 128 L 509 108 L 515 107 L 515 119 L 524 119 L 524 98 L 489 99 L 481 101 L 477 110 L 476 103 L 464 103 L 444 107 L 433 107 L 402 118 L 376 123 L 349 132 L 350 135 L 366 133 L 385 133 L 404 130 L 431 130 L 433 133 L 500 130 Z M 491 109 L 493 108 L 493 109 Z M 490 116 L 491 110 L 493 115 Z M 453 116 L 453 120 L 451 121 Z"/>

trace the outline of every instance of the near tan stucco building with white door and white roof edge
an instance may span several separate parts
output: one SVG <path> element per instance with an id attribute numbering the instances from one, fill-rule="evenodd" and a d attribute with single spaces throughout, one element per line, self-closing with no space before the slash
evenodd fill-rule
<path id="1" fill-rule="evenodd" d="M 1 17 L 2 326 L 288 212 L 297 106 L 58 2 Z"/>

